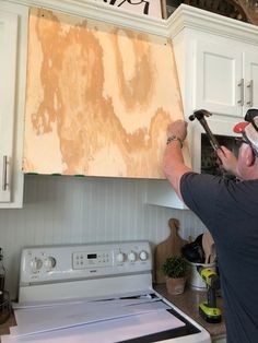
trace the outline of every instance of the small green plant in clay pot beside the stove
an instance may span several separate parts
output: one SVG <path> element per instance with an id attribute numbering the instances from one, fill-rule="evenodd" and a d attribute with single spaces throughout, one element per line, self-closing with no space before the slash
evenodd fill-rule
<path id="1" fill-rule="evenodd" d="M 188 270 L 188 263 L 181 256 L 172 256 L 165 260 L 162 271 L 165 274 L 167 293 L 172 295 L 184 293 Z"/>

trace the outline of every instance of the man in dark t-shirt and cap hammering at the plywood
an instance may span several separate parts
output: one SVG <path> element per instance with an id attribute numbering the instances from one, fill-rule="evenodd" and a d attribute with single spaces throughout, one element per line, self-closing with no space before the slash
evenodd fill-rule
<path id="1" fill-rule="evenodd" d="M 216 151 L 223 168 L 241 181 L 185 165 L 183 120 L 168 126 L 163 161 L 172 187 L 214 238 L 227 343 L 258 342 L 258 111 L 249 110 L 245 120 L 235 127 L 243 138 L 238 159 L 225 146 Z"/>

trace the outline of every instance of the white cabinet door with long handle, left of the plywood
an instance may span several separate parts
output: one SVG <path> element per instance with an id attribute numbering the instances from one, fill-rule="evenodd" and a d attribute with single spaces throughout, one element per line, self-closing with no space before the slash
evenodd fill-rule
<path id="1" fill-rule="evenodd" d="M 11 201 L 17 15 L 0 11 L 0 202 Z"/>

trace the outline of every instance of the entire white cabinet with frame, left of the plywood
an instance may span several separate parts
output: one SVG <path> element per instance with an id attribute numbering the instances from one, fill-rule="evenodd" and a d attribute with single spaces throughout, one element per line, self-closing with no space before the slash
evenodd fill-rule
<path id="1" fill-rule="evenodd" d="M 21 208 L 27 8 L 0 3 L 0 208 Z"/>

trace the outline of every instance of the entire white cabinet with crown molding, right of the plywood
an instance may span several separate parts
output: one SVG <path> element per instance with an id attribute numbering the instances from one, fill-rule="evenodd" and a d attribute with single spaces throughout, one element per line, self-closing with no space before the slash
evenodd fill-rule
<path id="1" fill-rule="evenodd" d="M 233 135 L 234 125 L 246 110 L 258 107 L 258 26 L 184 4 L 171 15 L 167 26 L 185 119 L 196 109 L 210 110 L 212 132 Z M 198 120 L 189 122 L 191 166 L 198 173 L 203 132 Z M 146 202 L 186 209 L 168 181 L 149 181 Z"/>

